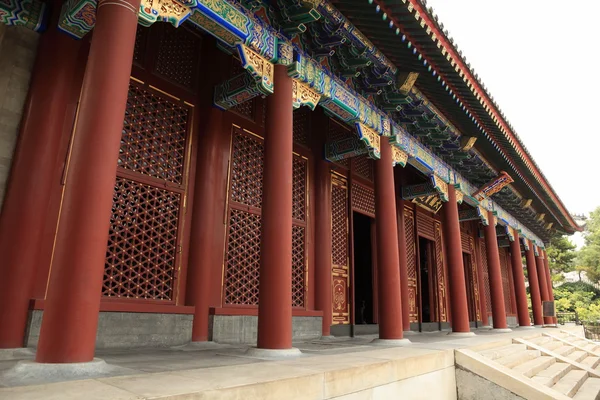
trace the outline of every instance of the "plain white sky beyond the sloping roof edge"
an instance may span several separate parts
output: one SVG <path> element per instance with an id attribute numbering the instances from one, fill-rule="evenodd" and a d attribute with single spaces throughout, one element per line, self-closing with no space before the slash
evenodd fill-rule
<path id="1" fill-rule="evenodd" d="M 428 0 L 427 6 L 569 212 L 600 206 L 600 1 Z"/>

